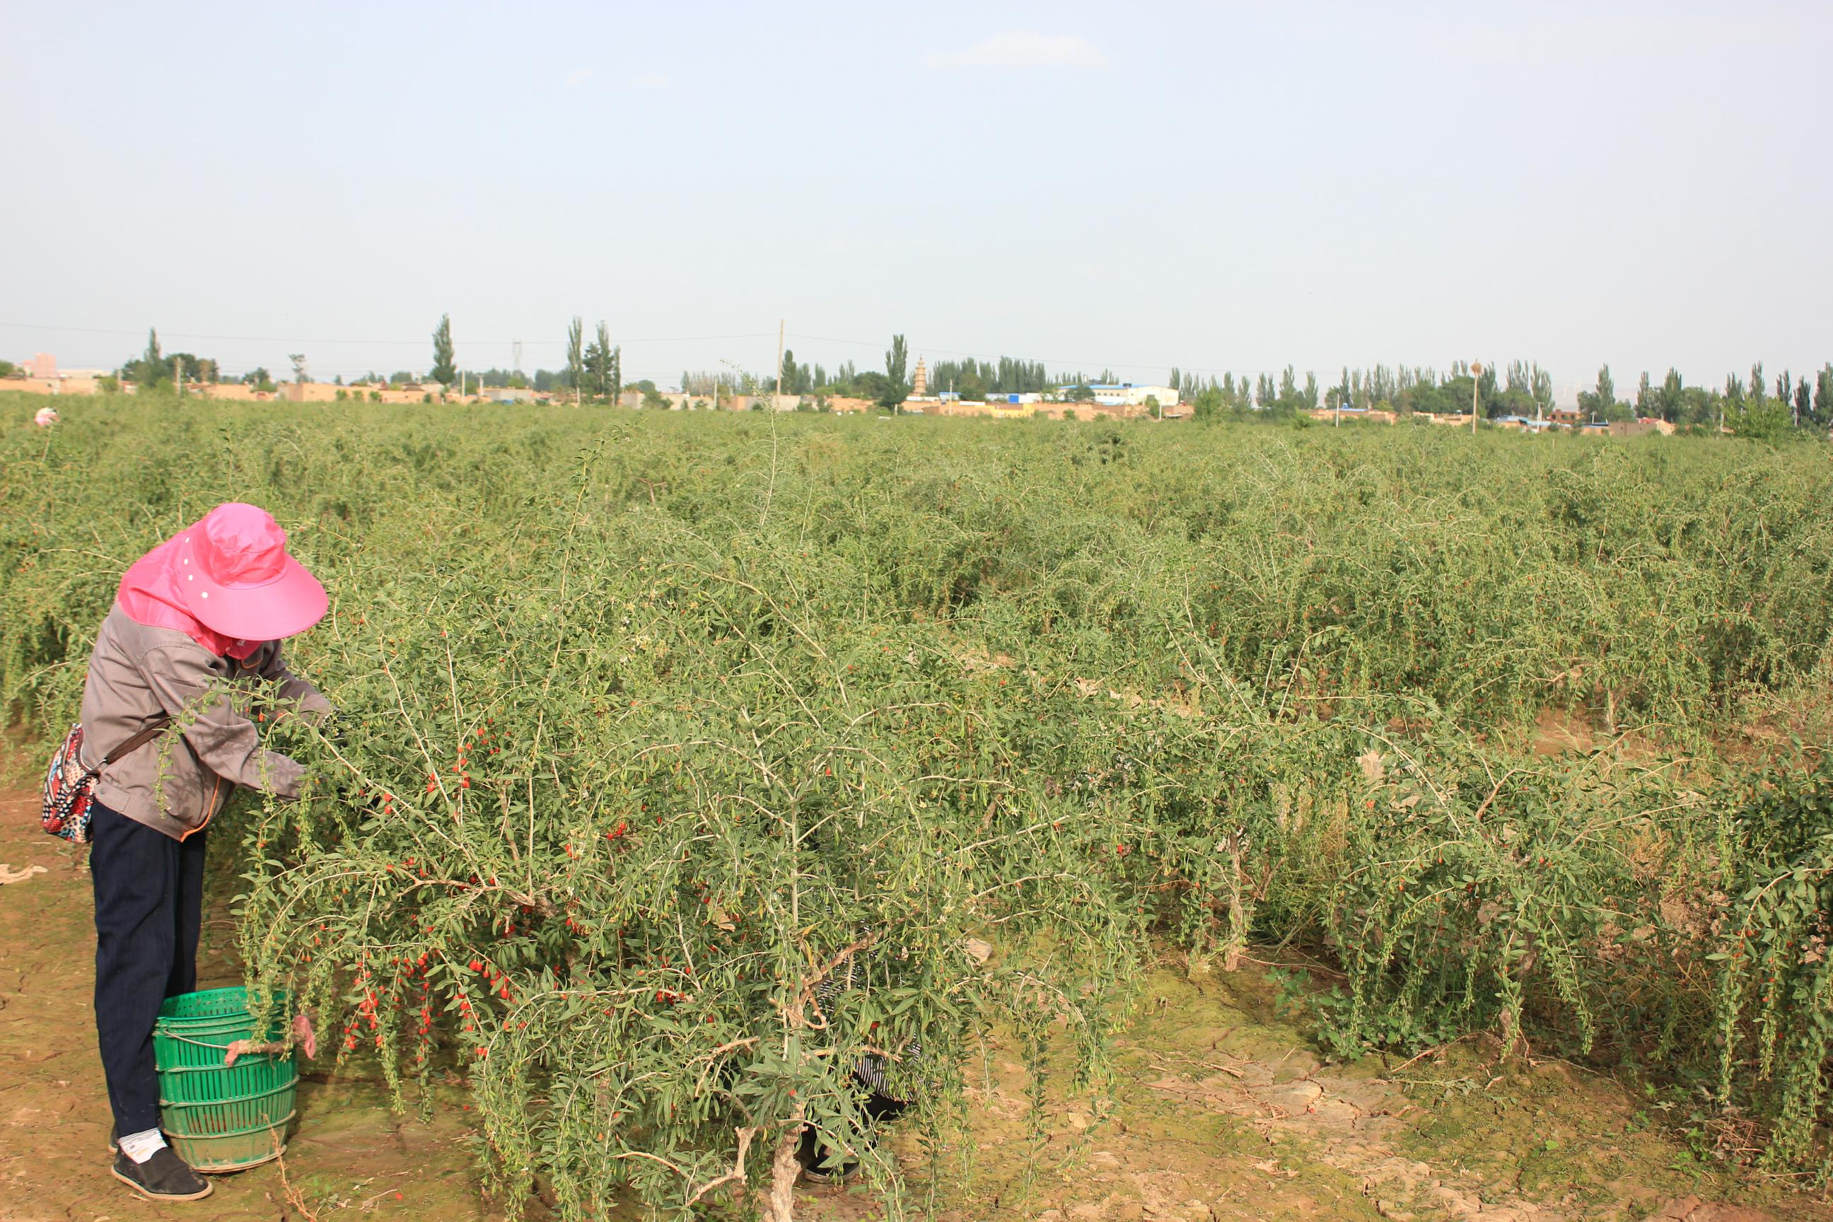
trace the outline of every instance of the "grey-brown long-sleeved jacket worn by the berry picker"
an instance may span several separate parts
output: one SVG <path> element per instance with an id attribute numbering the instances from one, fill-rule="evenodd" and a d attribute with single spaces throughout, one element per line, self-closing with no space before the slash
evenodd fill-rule
<path id="1" fill-rule="evenodd" d="M 95 801 L 181 841 L 207 824 L 238 784 L 297 797 L 304 769 L 264 749 L 235 702 L 207 698 L 211 685 L 224 682 L 246 689 L 279 683 L 277 694 L 301 713 L 330 711 L 319 689 L 286 669 L 279 641 L 244 661 L 218 658 L 183 632 L 136 623 L 117 603 L 95 636 L 82 687 L 82 762 L 101 762 L 161 715 L 178 720 L 104 768 Z"/>

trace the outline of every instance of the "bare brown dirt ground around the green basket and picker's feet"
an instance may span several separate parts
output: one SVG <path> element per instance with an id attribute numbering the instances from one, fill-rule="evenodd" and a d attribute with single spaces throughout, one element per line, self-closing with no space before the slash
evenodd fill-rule
<path id="1" fill-rule="evenodd" d="M 478 1195 L 456 1094 L 423 1125 L 390 1114 L 379 1083 L 312 1068 L 302 1072 L 284 1182 L 268 1163 L 216 1176 L 211 1196 L 172 1206 L 117 1184 L 108 1174 L 108 1094 L 92 1015 L 88 850 L 44 835 L 37 823 L 35 793 L 0 793 L 0 878 L 27 872 L 0 887 L 0 1220 L 310 1222 L 345 1209 L 455 1222 L 500 1217 Z M 240 984 L 220 905 L 205 922 L 198 977 L 200 987 Z"/>

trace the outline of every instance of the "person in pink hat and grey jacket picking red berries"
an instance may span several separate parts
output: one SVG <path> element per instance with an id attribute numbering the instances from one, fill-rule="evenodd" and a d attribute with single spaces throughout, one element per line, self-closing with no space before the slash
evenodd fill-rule
<path id="1" fill-rule="evenodd" d="M 161 718 L 172 735 L 101 771 L 90 806 L 95 1031 L 114 1108 L 114 1176 L 154 1200 L 209 1196 L 159 1132 L 152 1026 L 198 978 L 203 832 L 236 786 L 299 795 L 301 764 L 266 751 L 224 687 L 279 685 L 301 713 L 330 704 L 286 669 L 280 639 L 324 616 L 324 586 L 266 511 L 222 504 L 126 570 L 82 689 L 82 755 L 101 760 Z"/>

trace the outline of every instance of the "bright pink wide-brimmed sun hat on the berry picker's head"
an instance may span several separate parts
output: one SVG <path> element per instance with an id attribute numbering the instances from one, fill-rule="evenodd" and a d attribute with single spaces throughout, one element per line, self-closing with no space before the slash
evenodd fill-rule
<path id="1" fill-rule="evenodd" d="M 286 531 L 266 509 L 229 500 L 178 537 L 178 594 L 203 627 L 277 641 L 324 617 L 330 601 L 286 553 Z"/>

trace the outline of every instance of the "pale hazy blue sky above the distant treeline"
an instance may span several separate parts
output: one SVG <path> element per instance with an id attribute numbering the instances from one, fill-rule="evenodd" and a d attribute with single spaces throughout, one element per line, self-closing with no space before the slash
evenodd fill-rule
<path id="1" fill-rule="evenodd" d="M 0 357 L 1833 359 L 1833 4 L 15 5 Z"/>

